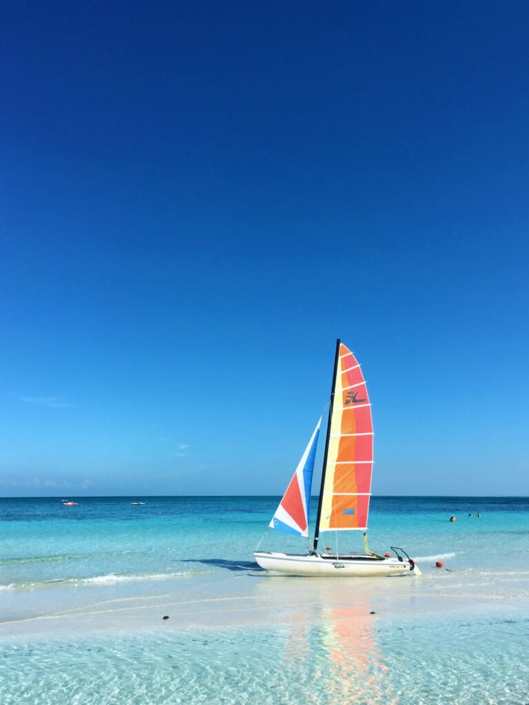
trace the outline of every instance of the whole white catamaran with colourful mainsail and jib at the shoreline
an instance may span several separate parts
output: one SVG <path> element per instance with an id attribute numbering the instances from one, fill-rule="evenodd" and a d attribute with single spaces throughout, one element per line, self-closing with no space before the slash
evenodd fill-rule
<path id="1" fill-rule="evenodd" d="M 321 422 L 320 417 L 269 523 L 271 529 L 309 536 L 310 489 Z M 312 550 L 305 554 L 256 550 L 254 556 L 260 567 L 284 575 L 420 575 L 413 559 L 402 548 L 391 546 L 394 556 L 389 553 L 378 556 L 367 547 L 372 466 L 373 427 L 365 379 L 351 350 L 338 340 Z M 324 551 L 318 550 L 322 532 L 351 531 L 363 532 L 363 555 L 340 553 L 338 537 L 341 534 L 335 534 L 336 550 L 329 546 Z"/>

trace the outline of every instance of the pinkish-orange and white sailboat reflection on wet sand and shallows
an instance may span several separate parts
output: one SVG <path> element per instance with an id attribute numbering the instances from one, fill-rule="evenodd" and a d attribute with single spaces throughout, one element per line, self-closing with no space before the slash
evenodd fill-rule
<path id="1" fill-rule="evenodd" d="M 378 618 L 370 614 L 369 587 L 354 582 L 354 588 L 348 580 L 331 588 L 324 579 L 277 578 L 259 585 L 269 619 L 281 623 L 284 673 L 291 675 L 292 687 L 296 682 L 303 702 L 399 704 L 379 643 Z"/>

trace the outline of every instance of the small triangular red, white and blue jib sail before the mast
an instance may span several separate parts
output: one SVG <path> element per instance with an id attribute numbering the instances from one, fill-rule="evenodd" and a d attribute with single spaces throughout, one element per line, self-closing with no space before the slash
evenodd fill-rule
<path id="1" fill-rule="evenodd" d="M 314 472 L 314 459 L 316 446 L 320 435 L 320 424 L 316 424 L 314 433 L 308 442 L 305 453 L 301 456 L 296 472 L 286 488 L 283 499 L 276 509 L 276 513 L 269 523 L 271 529 L 279 529 L 288 534 L 308 537 L 310 488 L 312 486 L 312 472 Z"/>

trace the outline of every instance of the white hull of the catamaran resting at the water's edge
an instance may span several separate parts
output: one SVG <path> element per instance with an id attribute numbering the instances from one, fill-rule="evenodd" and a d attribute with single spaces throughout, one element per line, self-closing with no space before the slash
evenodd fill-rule
<path id="1" fill-rule="evenodd" d="M 256 551 L 255 560 L 261 568 L 283 575 L 320 575 L 336 577 L 375 577 L 401 575 L 414 570 L 415 564 L 397 558 L 373 556 L 296 556 L 289 553 Z M 413 568 L 412 568 L 413 565 Z M 416 570 L 416 569 L 415 569 Z M 413 575 L 413 572 L 412 572 Z"/>

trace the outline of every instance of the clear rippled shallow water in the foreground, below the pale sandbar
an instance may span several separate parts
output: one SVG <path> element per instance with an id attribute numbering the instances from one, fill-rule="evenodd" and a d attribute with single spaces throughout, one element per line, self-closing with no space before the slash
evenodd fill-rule
<path id="1" fill-rule="evenodd" d="M 529 620 L 384 620 L 329 609 L 320 625 L 0 643 L 15 705 L 527 703 Z"/>

